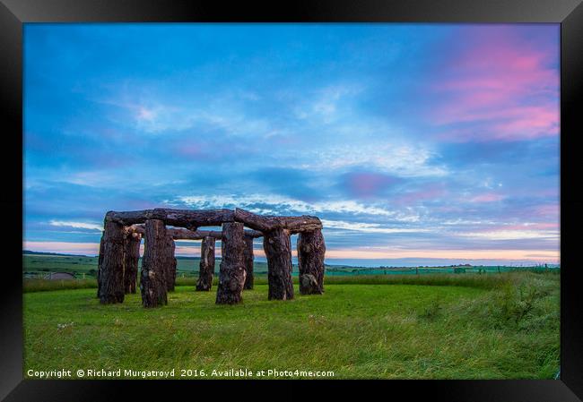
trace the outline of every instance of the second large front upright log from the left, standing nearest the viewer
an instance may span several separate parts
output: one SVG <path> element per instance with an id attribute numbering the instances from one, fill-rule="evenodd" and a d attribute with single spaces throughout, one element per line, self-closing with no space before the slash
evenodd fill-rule
<path id="1" fill-rule="evenodd" d="M 157 307 L 168 304 L 166 288 L 166 226 L 159 219 L 148 219 L 145 224 L 144 259 L 142 260 L 142 304 Z"/>

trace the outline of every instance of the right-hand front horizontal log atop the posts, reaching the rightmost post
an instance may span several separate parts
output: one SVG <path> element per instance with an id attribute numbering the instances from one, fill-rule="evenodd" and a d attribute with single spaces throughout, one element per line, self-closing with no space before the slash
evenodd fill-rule
<path id="1" fill-rule="evenodd" d="M 290 233 L 300 233 L 322 228 L 322 222 L 318 217 L 302 215 L 300 217 L 274 217 L 260 216 L 248 210 L 235 209 L 234 219 L 245 226 L 261 232 L 269 232 L 275 229 L 286 229 Z"/>

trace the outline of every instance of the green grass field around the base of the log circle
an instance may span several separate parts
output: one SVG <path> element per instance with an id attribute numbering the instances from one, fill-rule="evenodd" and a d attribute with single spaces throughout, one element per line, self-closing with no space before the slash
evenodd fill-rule
<path id="1" fill-rule="evenodd" d="M 92 288 L 30 292 L 23 295 L 25 375 L 298 369 L 335 378 L 553 378 L 560 276 L 475 277 L 326 278 L 325 295 L 292 301 L 267 301 L 265 279 L 257 278 L 235 306 L 185 285 L 158 309 L 144 309 L 139 295 L 101 305 Z"/>

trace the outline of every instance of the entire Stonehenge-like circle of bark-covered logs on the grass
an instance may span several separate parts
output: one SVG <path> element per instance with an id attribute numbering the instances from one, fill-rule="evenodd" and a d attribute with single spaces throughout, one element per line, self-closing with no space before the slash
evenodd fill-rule
<path id="1" fill-rule="evenodd" d="M 222 231 L 199 230 L 221 226 Z M 246 229 L 245 227 L 248 227 Z M 238 304 L 244 289 L 253 288 L 253 239 L 263 237 L 267 259 L 269 300 L 293 298 L 291 235 L 298 234 L 300 293 L 324 292 L 326 244 L 317 217 L 261 216 L 247 210 L 135 210 L 105 215 L 98 261 L 101 304 L 123 303 L 136 292 L 140 244 L 144 256 L 140 291 L 144 307 L 168 304 L 174 290 L 177 261 L 175 240 L 202 240 L 197 291 L 213 286 L 214 248 L 221 240 L 216 304 Z"/>

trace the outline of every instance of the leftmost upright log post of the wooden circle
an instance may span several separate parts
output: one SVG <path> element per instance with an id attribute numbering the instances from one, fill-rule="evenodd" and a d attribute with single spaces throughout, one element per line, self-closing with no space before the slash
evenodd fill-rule
<path id="1" fill-rule="evenodd" d="M 100 303 L 124 302 L 124 227 L 107 221 L 100 268 Z"/>

